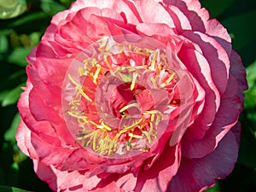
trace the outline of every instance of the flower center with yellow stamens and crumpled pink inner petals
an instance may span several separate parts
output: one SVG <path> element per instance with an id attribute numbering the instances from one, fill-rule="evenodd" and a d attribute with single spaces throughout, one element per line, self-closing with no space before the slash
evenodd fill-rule
<path id="1" fill-rule="evenodd" d="M 151 42 L 104 38 L 78 56 L 64 81 L 67 127 L 76 141 L 106 157 L 146 153 L 164 133 L 177 73 Z M 175 105 L 173 105 L 175 104 Z"/>

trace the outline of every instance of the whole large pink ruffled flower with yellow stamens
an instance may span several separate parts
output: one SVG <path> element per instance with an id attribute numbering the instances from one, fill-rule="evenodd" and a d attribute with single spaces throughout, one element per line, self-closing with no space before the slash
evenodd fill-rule
<path id="1" fill-rule="evenodd" d="M 55 191 L 202 191 L 233 169 L 245 70 L 198 0 L 79 0 L 28 55 L 16 139 Z"/>

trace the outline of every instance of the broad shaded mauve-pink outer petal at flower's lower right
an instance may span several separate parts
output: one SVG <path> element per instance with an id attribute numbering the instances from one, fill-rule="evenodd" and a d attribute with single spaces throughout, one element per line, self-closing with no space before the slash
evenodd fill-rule
<path id="1" fill-rule="evenodd" d="M 169 191 L 202 191 L 212 186 L 217 178 L 226 177 L 236 163 L 239 137 L 240 125 L 237 124 L 211 154 L 199 159 L 183 158 Z"/>

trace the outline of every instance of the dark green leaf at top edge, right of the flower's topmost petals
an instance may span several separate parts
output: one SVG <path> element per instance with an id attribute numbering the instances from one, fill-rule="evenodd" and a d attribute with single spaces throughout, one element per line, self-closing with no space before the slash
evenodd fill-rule
<path id="1" fill-rule="evenodd" d="M 201 5 L 209 10 L 212 18 L 215 18 L 223 14 L 234 2 L 235 0 L 201 0 Z"/>

